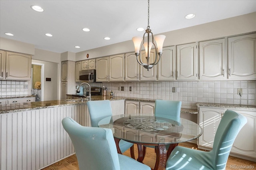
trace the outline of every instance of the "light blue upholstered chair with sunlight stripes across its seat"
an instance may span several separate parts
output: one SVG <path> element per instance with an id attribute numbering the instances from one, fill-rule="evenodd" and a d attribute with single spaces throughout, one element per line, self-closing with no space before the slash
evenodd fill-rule
<path id="1" fill-rule="evenodd" d="M 247 119 L 234 111 L 225 111 L 210 152 L 176 146 L 166 163 L 166 170 L 224 170 L 231 147 Z"/>

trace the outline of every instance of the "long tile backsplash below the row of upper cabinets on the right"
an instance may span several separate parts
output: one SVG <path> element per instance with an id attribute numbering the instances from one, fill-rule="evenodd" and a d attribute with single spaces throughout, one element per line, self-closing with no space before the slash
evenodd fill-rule
<path id="1" fill-rule="evenodd" d="M 182 108 L 197 109 L 196 103 L 221 103 L 256 105 L 256 81 L 152 81 L 92 83 L 91 86 L 107 87 L 107 95 L 182 101 Z M 119 91 L 118 87 L 124 87 Z M 132 87 L 132 91 L 129 91 Z M 176 92 L 172 92 L 176 87 Z M 242 96 L 237 89 L 242 88 Z"/>

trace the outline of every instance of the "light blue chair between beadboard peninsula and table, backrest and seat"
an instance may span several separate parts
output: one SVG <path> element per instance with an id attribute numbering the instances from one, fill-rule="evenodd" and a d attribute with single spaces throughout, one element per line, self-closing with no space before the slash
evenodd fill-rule
<path id="1" fill-rule="evenodd" d="M 92 127 L 98 127 L 100 120 L 112 116 L 112 109 L 109 100 L 88 101 L 87 103 Z M 134 157 L 134 144 L 120 140 L 119 148 L 122 153 L 130 148 L 131 157 Z"/>

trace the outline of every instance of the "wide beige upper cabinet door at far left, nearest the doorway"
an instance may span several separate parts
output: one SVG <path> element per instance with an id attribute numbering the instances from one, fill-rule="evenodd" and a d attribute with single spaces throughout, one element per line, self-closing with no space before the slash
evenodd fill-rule
<path id="1" fill-rule="evenodd" d="M 30 80 L 31 55 L 6 52 L 6 77 L 11 80 Z"/>

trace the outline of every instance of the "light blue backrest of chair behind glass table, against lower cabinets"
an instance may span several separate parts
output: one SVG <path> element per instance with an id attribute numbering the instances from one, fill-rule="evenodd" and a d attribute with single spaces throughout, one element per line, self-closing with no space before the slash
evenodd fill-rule
<path id="1" fill-rule="evenodd" d="M 181 101 L 156 100 L 155 115 L 180 122 Z"/>

